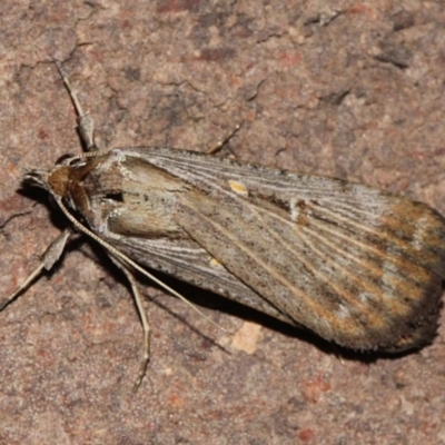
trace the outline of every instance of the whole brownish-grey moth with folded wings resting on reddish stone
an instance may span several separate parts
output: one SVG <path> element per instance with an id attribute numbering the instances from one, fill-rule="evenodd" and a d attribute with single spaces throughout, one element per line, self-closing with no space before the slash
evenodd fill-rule
<path id="1" fill-rule="evenodd" d="M 42 187 L 130 280 L 170 274 L 353 349 L 432 342 L 445 277 L 445 220 L 358 184 L 166 147 L 97 150 L 92 121 L 58 68 L 89 152 L 24 182 Z M 60 257 L 70 233 L 48 249 Z"/>

